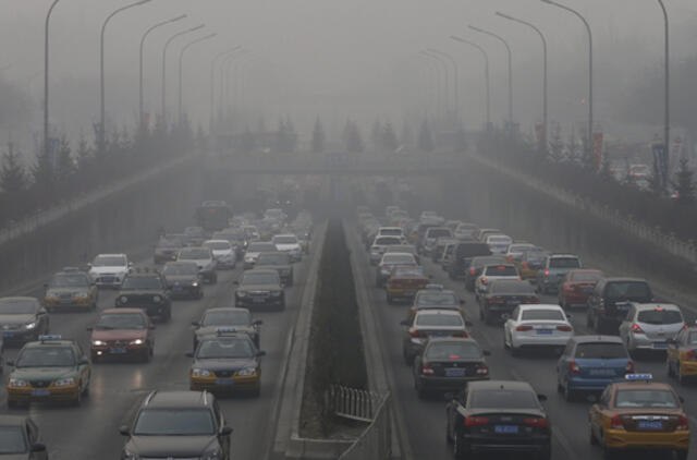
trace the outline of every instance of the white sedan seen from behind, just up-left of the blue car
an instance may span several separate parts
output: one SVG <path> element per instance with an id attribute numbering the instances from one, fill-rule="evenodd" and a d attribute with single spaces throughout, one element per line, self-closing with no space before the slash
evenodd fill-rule
<path id="1" fill-rule="evenodd" d="M 523 348 L 563 350 L 574 335 L 568 319 L 559 305 L 518 305 L 503 325 L 503 346 L 512 354 Z"/>

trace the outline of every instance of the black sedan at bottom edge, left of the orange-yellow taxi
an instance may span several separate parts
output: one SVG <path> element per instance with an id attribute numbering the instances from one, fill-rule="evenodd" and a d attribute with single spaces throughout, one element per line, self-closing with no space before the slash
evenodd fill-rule
<path id="1" fill-rule="evenodd" d="M 472 382 L 448 403 L 445 439 L 455 458 L 480 453 L 533 453 L 552 457 L 547 411 L 527 382 Z"/>

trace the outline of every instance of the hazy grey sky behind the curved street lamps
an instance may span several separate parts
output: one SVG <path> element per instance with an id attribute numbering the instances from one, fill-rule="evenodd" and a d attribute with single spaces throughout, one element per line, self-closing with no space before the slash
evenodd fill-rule
<path id="1" fill-rule="evenodd" d="M 61 0 L 51 22 L 53 96 L 51 119 L 57 129 L 91 134 L 97 121 L 99 31 L 123 0 Z M 692 52 L 697 32 L 697 4 L 668 0 L 673 24 L 675 59 Z M 3 76 L 30 94 L 38 128 L 42 92 L 42 39 L 50 0 L 0 0 L 0 69 Z M 622 89 L 637 72 L 658 68 L 662 56 L 662 16 L 656 0 L 566 0 L 585 14 L 596 34 L 598 93 Z M 497 10 L 535 22 L 550 40 L 550 118 L 583 120 L 586 37 L 568 13 L 539 0 L 152 0 L 114 17 L 107 31 L 107 110 L 119 125 L 137 113 L 137 50 L 151 24 L 182 13 L 188 19 L 151 35 L 146 46 L 146 102 L 159 111 L 162 44 L 172 33 L 205 23 L 206 29 L 176 40 L 169 53 L 168 107 L 176 104 L 176 61 L 181 46 L 208 33 L 218 37 L 196 48 L 185 60 L 185 106 L 196 122 L 207 125 L 209 72 L 215 53 L 242 45 L 252 50 L 240 92 L 241 105 L 262 113 L 273 125 L 281 114 L 306 128 L 321 114 L 333 128 L 346 117 L 399 120 L 423 109 L 427 89 L 425 47 L 455 56 L 461 66 L 464 120 L 475 128 L 482 120 L 481 61 L 448 37 L 473 38 L 491 56 L 493 118 L 505 114 L 505 55 L 497 41 L 467 32 L 467 24 L 496 31 L 510 39 L 515 65 L 515 116 L 523 126 L 540 113 L 541 51 L 537 36 L 493 15 Z M 603 69 L 606 65 L 606 69 Z M 610 69 L 626 70 L 626 81 L 604 78 Z M 612 80 L 612 81 L 610 81 Z M 219 96 L 217 96 L 219 98 Z M 609 108 L 598 99 L 598 119 Z M 604 110 L 604 113 L 603 113 Z M 0 134 L 2 136 L 5 133 Z"/>

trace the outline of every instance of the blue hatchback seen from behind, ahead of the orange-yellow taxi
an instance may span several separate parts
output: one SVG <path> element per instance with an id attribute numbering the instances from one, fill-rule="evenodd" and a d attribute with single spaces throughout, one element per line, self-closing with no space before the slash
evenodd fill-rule
<path id="1" fill-rule="evenodd" d="M 633 373 L 634 362 L 619 337 L 576 336 L 557 363 L 557 387 L 572 401 L 582 391 L 601 392 Z"/>

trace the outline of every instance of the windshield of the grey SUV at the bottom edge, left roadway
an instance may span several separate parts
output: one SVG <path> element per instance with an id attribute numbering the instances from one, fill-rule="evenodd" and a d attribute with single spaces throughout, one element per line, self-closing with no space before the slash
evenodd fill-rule
<path id="1" fill-rule="evenodd" d="M 208 409 L 145 409 L 133 428 L 135 436 L 213 436 Z"/>

